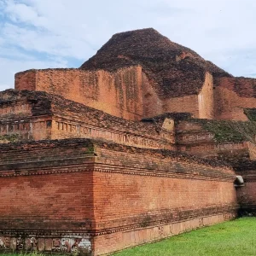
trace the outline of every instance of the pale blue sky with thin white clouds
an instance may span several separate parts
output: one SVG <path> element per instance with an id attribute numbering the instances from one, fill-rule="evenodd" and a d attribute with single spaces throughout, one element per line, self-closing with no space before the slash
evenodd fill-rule
<path id="1" fill-rule="evenodd" d="M 30 68 L 79 67 L 116 32 L 154 27 L 256 77 L 255 0 L 0 0 L 0 90 Z"/>

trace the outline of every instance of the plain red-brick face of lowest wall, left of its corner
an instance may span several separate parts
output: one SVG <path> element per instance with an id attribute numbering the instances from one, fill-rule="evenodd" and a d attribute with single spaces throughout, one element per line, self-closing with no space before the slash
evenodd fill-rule
<path id="1" fill-rule="evenodd" d="M 33 175 L 1 177 L 0 230 L 79 230 L 84 217 L 92 222 L 92 172 L 72 168 L 34 167 Z"/>

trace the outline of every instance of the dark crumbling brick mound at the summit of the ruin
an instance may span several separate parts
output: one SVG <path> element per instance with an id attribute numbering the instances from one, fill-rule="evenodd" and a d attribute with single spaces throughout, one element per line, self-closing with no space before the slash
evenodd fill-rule
<path id="1" fill-rule="evenodd" d="M 135 65 L 143 67 L 161 98 L 198 94 L 207 71 L 230 77 L 195 51 L 173 43 L 153 28 L 113 35 L 80 68 L 114 71 Z"/>

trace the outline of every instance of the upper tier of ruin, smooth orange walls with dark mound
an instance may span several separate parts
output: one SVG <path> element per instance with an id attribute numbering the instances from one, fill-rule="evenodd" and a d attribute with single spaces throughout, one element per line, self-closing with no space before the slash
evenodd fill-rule
<path id="1" fill-rule="evenodd" d="M 152 28 L 113 35 L 80 68 L 17 73 L 15 89 L 43 90 L 128 120 L 175 112 L 245 121 L 256 108 L 256 79 L 233 77 Z"/>

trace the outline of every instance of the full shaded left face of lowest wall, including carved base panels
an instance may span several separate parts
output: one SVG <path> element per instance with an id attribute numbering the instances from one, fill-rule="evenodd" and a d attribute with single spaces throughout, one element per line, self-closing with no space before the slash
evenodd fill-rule
<path id="1" fill-rule="evenodd" d="M 90 251 L 91 145 L 66 143 L 1 146 L 1 250 Z"/>

